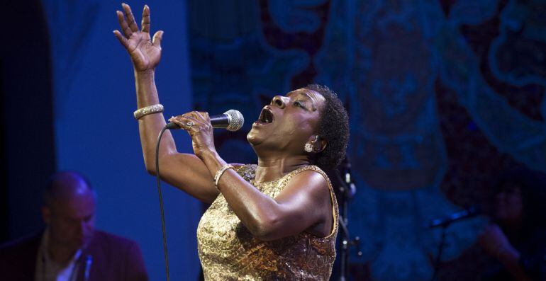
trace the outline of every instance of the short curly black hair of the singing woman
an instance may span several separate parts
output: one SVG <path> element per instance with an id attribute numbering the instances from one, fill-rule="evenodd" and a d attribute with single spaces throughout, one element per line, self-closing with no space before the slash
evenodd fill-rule
<path id="1" fill-rule="evenodd" d="M 337 168 L 345 158 L 347 142 L 349 142 L 349 116 L 338 94 L 327 86 L 310 84 L 308 90 L 320 93 L 324 99 L 324 108 L 318 121 L 318 136 L 328 144 L 319 152 L 314 161 L 323 170 Z"/>

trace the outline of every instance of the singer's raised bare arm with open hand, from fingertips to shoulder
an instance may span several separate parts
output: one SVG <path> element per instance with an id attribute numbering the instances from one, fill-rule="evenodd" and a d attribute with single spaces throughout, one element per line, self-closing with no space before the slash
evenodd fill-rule
<path id="1" fill-rule="evenodd" d="M 120 32 L 114 35 L 126 48 L 133 62 L 137 107 L 160 103 L 155 87 L 155 67 L 160 62 L 161 39 L 163 32 L 157 31 L 150 40 L 150 8 L 144 7 L 142 30 L 139 30 L 130 7 L 123 4 L 123 13 L 117 11 Z M 140 143 L 142 144 L 146 170 L 155 174 L 155 144 L 157 135 L 165 127 L 165 117 L 161 113 L 145 115 L 138 120 Z M 165 182 L 184 190 L 189 195 L 204 202 L 212 202 L 218 190 L 203 161 L 193 154 L 180 154 L 170 132 L 162 137 L 159 151 L 160 177 Z"/>

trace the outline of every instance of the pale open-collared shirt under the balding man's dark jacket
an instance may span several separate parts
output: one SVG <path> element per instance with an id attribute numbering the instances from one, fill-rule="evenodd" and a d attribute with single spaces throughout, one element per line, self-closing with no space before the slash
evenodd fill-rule
<path id="1" fill-rule="evenodd" d="M 82 255 L 82 250 L 79 249 L 74 253 L 66 265 L 60 265 L 52 260 L 48 253 L 50 243 L 49 229 L 45 229 L 40 242 L 38 256 L 36 257 L 36 273 L 35 281 L 74 281 L 77 278 L 79 268 L 79 257 Z"/>

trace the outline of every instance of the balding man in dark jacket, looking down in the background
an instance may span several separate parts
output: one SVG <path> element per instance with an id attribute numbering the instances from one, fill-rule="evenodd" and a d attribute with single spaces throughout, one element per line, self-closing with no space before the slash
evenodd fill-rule
<path id="1" fill-rule="evenodd" d="M 137 243 L 95 230 L 96 193 L 74 172 L 45 188 L 38 234 L 0 246 L 1 280 L 147 280 Z"/>

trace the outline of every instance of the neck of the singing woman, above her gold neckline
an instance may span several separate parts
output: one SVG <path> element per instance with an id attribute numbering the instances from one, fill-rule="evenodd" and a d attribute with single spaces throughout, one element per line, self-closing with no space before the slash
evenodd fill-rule
<path id="1" fill-rule="evenodd" d="M 306 156 L 292 157 L 258 157 L 258 167 L 256 168 L 255 182 L 263 183 L 265 181 L 276 180 L 300 168 L 310 165 L 311 162 Z"/>

